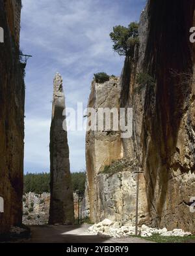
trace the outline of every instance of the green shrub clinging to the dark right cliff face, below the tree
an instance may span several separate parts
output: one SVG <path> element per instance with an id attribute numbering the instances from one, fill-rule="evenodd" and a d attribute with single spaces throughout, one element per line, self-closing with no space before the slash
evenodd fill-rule
<path id="1" fill-rule="evenodd" d="M 155 85 L 155 80 L 148 73 L 142 72 L 137 74 L 136 84 L 138 84 L 138 87 L 136 88 L 135 91 L 140 93 L 142 89 L 146 88 L 146 86 L 149 86 L 149 88 L 152 88 Z"/>

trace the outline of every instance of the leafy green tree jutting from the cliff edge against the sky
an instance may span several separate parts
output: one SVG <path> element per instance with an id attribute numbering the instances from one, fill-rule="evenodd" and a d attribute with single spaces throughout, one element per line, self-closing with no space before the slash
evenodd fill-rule
<path id="1" fill-rule="evenodd" d="M 115 52 L 120 56 L 130 56 L 131 50 L 139 43 L 138 24 L 132 22 L 128 27 L 123 27 L 122 25 L 113 27 L 110 39 L 114 43 L 112 48 Z"/>

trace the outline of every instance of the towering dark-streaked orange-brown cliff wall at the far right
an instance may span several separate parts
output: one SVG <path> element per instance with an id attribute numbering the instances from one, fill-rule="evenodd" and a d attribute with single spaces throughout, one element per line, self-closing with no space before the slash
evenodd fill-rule
<path id="1" fill-rule="evenodd" d="M 195 1 L 149 1 L 144 68 L 156 86 L 146 88 L 142 166 L 155 227 L 195 232 L 194 56 L 189 40 Z M 166 16 L 166 19 L 164 19 Z"/>

